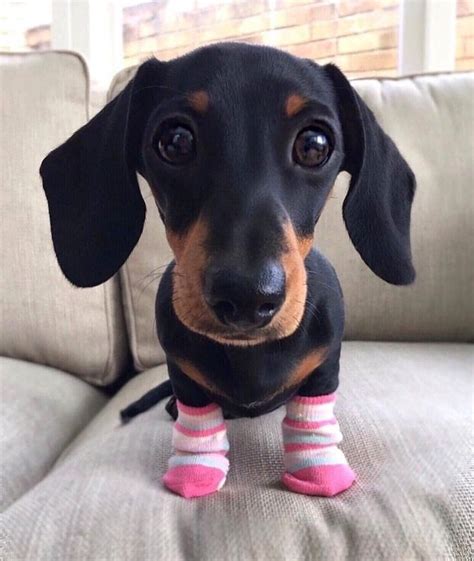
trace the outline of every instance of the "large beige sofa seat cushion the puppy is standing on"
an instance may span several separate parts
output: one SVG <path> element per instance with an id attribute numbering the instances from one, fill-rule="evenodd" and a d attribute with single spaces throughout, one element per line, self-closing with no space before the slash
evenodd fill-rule
<path id="1" fill-rule="evenodd" d="M 127 425 L 119 410 L 166 376 L 133 379 L 55 469 L 4 515 L 8 559 L 467 559 L 473 349 L 345 344 L 336 412 L 356 484 L 294 495 L 280 409 L 228 422 L 226 486 L 186 500 L 161 485 L 171 452 L 164 402 Z"/>

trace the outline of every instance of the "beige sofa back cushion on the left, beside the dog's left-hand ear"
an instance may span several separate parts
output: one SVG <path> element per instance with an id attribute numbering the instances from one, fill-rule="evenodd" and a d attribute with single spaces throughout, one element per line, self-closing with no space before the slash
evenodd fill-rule
<path id="1" fill-rule="evenodd" d="M 87 290 L 64 278 L 38 172 L 87 119 L 87 70 L 72 53 L 3 54 L 0 91 L 0 355 L 107 384 L 127 353 L 118 278 Z"/>

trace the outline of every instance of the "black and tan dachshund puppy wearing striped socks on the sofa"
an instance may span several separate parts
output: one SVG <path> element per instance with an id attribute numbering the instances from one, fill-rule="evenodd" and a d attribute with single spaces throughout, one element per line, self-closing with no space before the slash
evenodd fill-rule
<path id="1" fill-rule="evenodd" d="M 355 248 L 385 281 L 412 282 L 413 173 L 333 65 L 235 43 L 149 60 L 44 160 L 55 251 L 77 286 L 109 279 L 137 243 L 137 172 L 154 194 L 175 255 L 156 300 L 177 399 L 164 478 L 173 491 L 224 483 L 223 411 L 257 416 L 283 403 L 287 487 L 334 495 L 352 484 L 333 415 L 343 299 L 313 248 L 342 170 Z"/>

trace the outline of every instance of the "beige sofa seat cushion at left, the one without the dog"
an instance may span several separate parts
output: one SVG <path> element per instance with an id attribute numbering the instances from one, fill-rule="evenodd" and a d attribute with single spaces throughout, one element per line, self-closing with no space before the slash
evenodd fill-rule
<path id="1" fill-rule="evenodd" d="M 70 374 L 4 357 L 0 387 L 4 510 L 44 477 L 106 398 Z"/>

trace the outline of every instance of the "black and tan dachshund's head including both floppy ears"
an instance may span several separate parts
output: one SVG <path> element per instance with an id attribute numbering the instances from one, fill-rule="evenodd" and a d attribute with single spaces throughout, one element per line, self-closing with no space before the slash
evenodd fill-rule
<path id="1" fill-rule="evenodd" d="M 136 172 L 176 257 L 178 318 L 233 344 L 290 335 L 304 260 L 342 170 L 344 219 L 366 264 L 414 279 L 413 173 L 333 65 L 242 44 L 149 60 L 41 166 L 59 264 L 78 286 L 111 277 L 145 219 Z"/>

